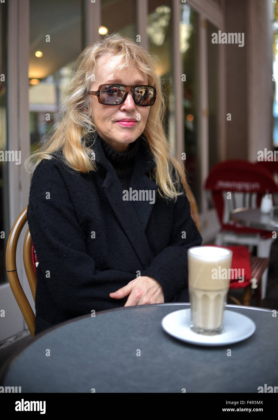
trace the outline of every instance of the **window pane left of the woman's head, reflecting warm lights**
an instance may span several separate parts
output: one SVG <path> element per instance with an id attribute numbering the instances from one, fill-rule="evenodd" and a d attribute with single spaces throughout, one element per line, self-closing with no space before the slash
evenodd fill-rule
<path id="1" fill-rule="evenodd" d="M 82 11 L 82 0 L 30 0 L 31 152 L 57 119 L 59 100 L 83 50 Z"/>

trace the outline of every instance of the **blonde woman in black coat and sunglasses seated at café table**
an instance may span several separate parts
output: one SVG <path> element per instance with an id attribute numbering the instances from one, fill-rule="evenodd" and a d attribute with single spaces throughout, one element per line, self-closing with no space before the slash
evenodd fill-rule
<path id="1" fill-rule="evenodd" d="M 35 333 L 94 311 L 172 302 L 187 289 L 187 249 L 202 238 L 168 149 L 156 64 L 119 34 L 86 47 L 56 131 L 26 160 Z M 151 101 L 140 106 L 146 86 Z"/>

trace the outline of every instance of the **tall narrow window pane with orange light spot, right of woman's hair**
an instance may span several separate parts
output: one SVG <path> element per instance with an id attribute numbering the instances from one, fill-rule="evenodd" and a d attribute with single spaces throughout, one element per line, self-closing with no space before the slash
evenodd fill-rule
<path id="1" fill-rule="evenodd" d="M 187 181 L 201 211 L 199 118 L 199 15 L 188 4 L 181 5 L 179 48 L 182 53 L 184 150 Z"/>

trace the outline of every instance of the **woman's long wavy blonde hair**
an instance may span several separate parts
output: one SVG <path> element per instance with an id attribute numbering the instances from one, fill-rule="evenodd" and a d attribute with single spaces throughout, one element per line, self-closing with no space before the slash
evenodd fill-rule
<path id="1" fill-rule="evenodd" d="M 115 71 L 124 67 L 135 66 L 148 76 L 148 84 L 156 87 L 156 102 L 150 108 L 150 113 L 142 133 L 143 140 L 149 145 L 155 161 L 155 168 L 149 174 L 158 185 L 158 193 L 166 199 L 174 199 L 181 195 L 181 182 L 186 190 L 187 181 L 182 165 L 171 155 L 166 139 L 164 115 L 166 105 L 162 93 L 162 81 L 156 73 L 159 60 L 151 55 L 133 39 L 114 33 L 88 45 L 79 55 L 75 71 L 70 77 L 65 89 L 65 99 L 60 111 L 60 120 L 49 139 L 29 154 L 25 160 L 25 169 L 33 173 L 42 159 L 52 159 L 52 153 L 62 150 L 62 160 L 75 171 L 88 173 L 96 171 L 92 160 L 92 146 L 86 143 L 87 135 L 97 134 L 94 115 L 88 115 L 89 95 L 92 76 L 96 72 L 97 60 L 106 55 L 124 58 L 124 64 L 117 66 Z"/>

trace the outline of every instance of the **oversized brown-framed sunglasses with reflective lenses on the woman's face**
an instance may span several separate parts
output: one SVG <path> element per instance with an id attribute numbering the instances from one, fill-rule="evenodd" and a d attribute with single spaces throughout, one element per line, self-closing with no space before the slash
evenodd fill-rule
<path id="1" fill-rule="evenodd" d="M 125 101 L 128 92 L 132 92 L 133 100 L 139 106 L 151 106 L 156 100 L 156 88 L 149 85 L 127 86 L 125 84 L 101 84 L 96 91 L 90 90 L 99 103 L 104 105 L 120 105 Z"/>

